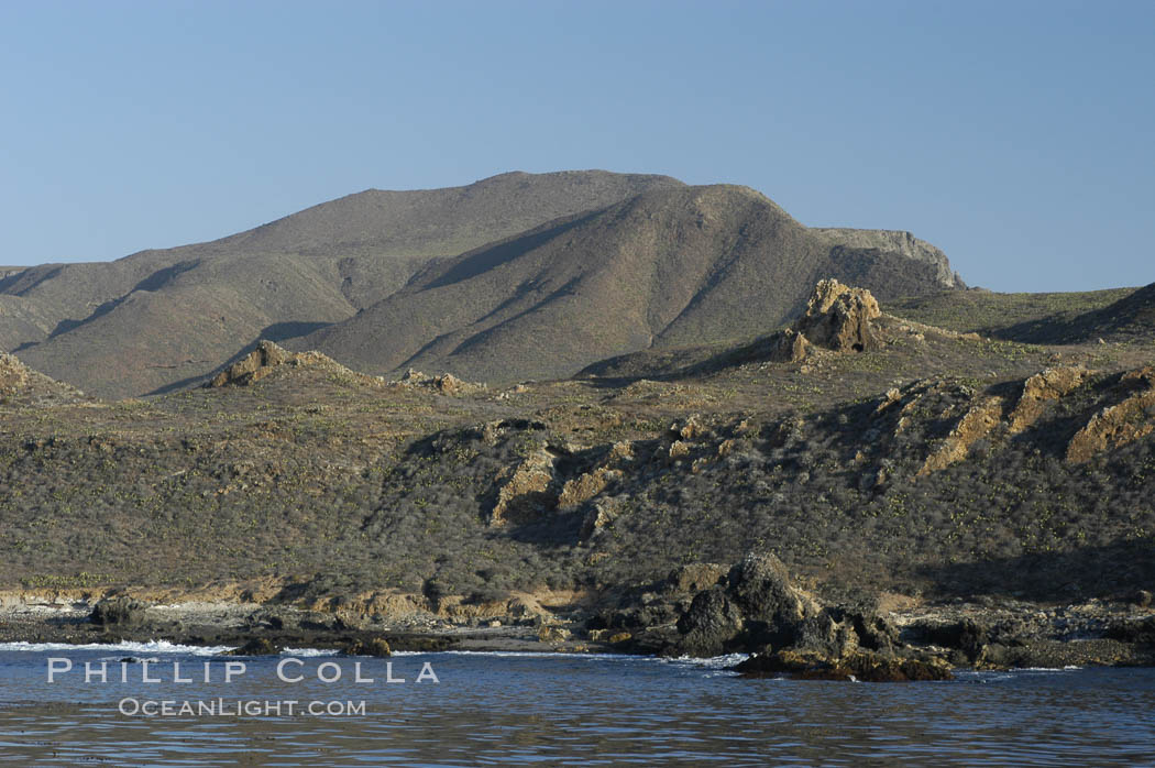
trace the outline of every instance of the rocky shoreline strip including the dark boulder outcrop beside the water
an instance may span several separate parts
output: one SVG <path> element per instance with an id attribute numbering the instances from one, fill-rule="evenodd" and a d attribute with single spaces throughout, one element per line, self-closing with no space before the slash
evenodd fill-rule
<path id="1" fill-rule="evenodd" d="M 770 554 L 725 567 L 684 566 L 646 590 L 603 596 L 565 612 L 512 601 L 483 618 L 404 616 L 238 601 L 147 603 L 8 592 L 0 642 L 169 641 L 228 646 L 245 655 L 333 649 L 392 651 L 620 653 L 714 657 L 750 654 L 752 677 L 902 681 L 949 679 L 954 669 L 1155 665 L 1155 607 L 1090 599 L 1044 605 L 982 597 L 919 603 L 880 596 L 824 604 Z"/>

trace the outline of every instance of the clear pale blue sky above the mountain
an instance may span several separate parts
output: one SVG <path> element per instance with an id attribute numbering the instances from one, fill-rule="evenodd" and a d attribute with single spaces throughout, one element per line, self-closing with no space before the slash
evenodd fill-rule
<path id="1" fill-rule="evenodd" d="M 0 0 L 0 264 L 601 167 L 910 230 L 994 290 L 1155 281 L 1150 0 Z"/>

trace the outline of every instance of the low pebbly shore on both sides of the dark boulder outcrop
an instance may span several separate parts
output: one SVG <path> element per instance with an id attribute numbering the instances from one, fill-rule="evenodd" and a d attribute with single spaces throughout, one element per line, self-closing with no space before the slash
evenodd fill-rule
<path id="1" fill-rule="evenodd" d="M 885 620 L 903 641 L 906 657 L 917 657 L 946 671 L 1065 669 L 1086 666 L 1155 666 L 1155 610 L 1150 606 L 1088 601 L 1066 606 L 977 602 L 933 604 L 887 611 Z M 54 602 L 9 594 L 0 605 L 0 643 L 169 642 L 199 648 L 229 647 L 232 655 L 273 655 L 284 649 L 344 655 L 394 651 L 604 654 L 670 658 L 717 656 L 672 655 L 648 647 L 643 633 L 586 629 L 586 617 L 568 622 L 521 618 L 497 626 L 465 626 L 445 619 L 407 617 L 402 621 L 350 622 L 335 613 L 284 605 L 191 601 L 150 605 L 122 625 L 94 622 L 97 601 Z M 595 639 L 596 637 L 596 639 Z M 374 643 L 383 640 L 385 651 Z M 755 655 L 757 648 L 731 654 Z M 224 655 L 224 654 L 222 654 Z M 753 656 L 752 656 L 753 658 Z M 758 676 L 757 666 L 753 668 Z M 751 671 L 747 669 L 747 671 Z M 789 673 L 773 668 L 765 674 Z M 805 677 L 802 670 L 797 677 Z"/>

